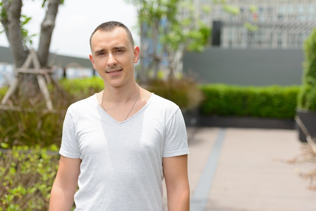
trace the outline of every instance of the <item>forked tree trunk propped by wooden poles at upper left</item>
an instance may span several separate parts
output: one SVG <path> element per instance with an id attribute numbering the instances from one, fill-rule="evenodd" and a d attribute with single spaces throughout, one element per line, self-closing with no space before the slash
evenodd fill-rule
<path id="1" fill-rule="evenodd" d="M 37 48 L 37 57 L 41 67 L 47 67 L 51 35 L 55 27 L 58 8 L 63 2 L 63 0 L 43 0 L 42 2 L 42 8 L 45 8 L 46 13 L 41 22 Z M 16 68 L 21 67 L 29 55 L 28 45 L 32 44 L 31 37 L 34 36 L 24 28 L 31 17 L 21 14 L 22 7 L 22 0 L 2 0 L 0 2 L 0 21 L 3 26 L 3 30 L 0 32 L 6 33 Z M 28 86 L 34 86 L 34 80 L 32 80 L 34 78 L 34 75 L 27 75 L 25 77 L 27 80 L 24 81 Z M 30 92 L 28 91 L 28 93 Z"/>

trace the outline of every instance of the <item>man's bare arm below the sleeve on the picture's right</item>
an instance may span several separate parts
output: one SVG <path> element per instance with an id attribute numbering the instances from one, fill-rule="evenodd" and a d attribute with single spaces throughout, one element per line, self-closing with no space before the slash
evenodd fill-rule
<path id="1" fill-rule="evenodd" d="M 187 154 L 163 158 L 169 211 L 188 211 L 190 209 L 187 164 Z"/>

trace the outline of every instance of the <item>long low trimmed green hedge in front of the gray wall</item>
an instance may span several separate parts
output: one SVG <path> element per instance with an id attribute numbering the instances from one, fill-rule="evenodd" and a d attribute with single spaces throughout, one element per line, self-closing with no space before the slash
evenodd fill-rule
<path id="1" fill-rule="evenodd" d="M 294 119 L 299 86 L 201 85 L 201 115 Z"/>

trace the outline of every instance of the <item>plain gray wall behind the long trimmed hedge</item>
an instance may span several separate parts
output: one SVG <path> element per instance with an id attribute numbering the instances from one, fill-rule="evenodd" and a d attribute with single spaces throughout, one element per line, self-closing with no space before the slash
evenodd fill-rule
<path id="1" fill-rule="evenodd" d="M 200 83 L 233 85 L 300 85 L 302 49 L 207 48 L 184 55 L 184 71 L 198 76 Z"/>

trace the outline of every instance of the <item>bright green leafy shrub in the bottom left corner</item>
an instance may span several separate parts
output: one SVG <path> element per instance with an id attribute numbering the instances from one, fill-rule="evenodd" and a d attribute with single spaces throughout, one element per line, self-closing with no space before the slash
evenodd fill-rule
<path id="1" fill-rule="evenodd" d="M 0 158 L 0 210 L 48 210 L 58 169 L 58 147 L 13 146 L 2 149 Z"/>

